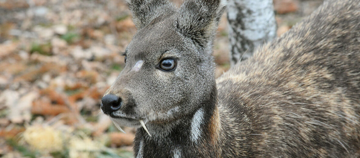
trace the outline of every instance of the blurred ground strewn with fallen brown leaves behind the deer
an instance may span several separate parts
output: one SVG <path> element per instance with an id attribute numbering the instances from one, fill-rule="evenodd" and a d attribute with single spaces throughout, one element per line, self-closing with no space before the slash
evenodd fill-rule
<path id="1" fill-rule="evenodd" d="M 321 3 L 274 0 L 278 36 Z M 227 28 L 224 14 L 217 77 L 230 67 Z M 133 157 L 135 130 L 99 107 L 135 32 L 125 0 L 0 0 L 0 157 Z"/>

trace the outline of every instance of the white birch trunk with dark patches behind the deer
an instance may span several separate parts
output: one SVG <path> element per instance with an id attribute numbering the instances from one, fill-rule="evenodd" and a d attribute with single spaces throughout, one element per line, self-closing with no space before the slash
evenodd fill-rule
<path id="1" fill-rule="evenodd" d="M 252 56 L 254 48 L 276 36 L 273 0 L 229 0 L 230 63 Z"/>

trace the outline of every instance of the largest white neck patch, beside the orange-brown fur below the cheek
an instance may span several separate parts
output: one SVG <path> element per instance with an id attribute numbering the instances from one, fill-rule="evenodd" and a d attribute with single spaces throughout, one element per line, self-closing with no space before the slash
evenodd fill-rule
<path id="1" fill-rule="evenodd" d="M 190 136 L 193 142 L 197 142 L 197 140 L 201 135 L 200 125 L 203 122 L 203 117 L 204 117 L 203 109 L 199 109 L 198 111 L 196 111 L 193 116 L 193 120 L 191 121 L 191 136 Z"/>

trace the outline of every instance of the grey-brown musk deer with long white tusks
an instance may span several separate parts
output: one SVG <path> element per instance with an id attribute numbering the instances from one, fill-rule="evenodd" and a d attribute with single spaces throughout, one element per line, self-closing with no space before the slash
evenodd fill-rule
<path id="1" fill-rule="evenodd" d="M 217 80 L 226 0 L 127 3 L 138 31 L 101 109 L 138 128 L 135 157 L 360 157 L 359 0 L 325 1 Z"/>

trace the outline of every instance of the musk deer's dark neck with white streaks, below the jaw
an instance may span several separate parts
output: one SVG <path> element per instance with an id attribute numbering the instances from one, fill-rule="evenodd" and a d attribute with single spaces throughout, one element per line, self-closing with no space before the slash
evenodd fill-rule
<path id="1" fill-rule="evenodd" d="M 136 130 L 136 158 L 220 157 L 220 120 L 216 86 L 199 109 L 181 120 L 166 125 L 147 125 L 158 133 L 150 137 L 143 128 Z"/>

